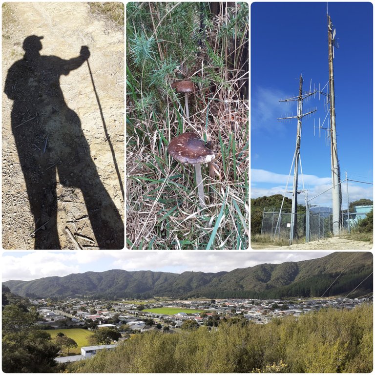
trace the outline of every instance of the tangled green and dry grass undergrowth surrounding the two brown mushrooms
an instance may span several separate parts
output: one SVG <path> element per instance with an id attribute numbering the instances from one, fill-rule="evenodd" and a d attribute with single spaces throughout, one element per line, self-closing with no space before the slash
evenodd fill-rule
<path id="1" fill-rule="evenodd" d="M 226 4 L 126 4 L 128 249 L 249 246 L 249 8 Z M 184 96 L 171 88 L 182 80 L 195 85 L 188 119 Z M 194 167 L 167 152 L 183 132 L 197 133 L 216 153 L 214 177 L 202 164 L 203 209 Z"/>

